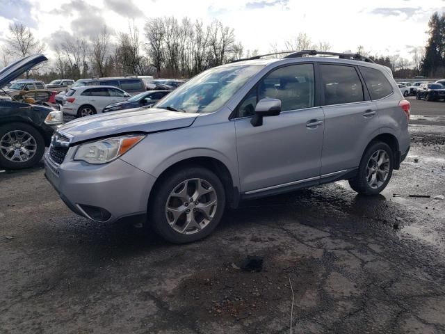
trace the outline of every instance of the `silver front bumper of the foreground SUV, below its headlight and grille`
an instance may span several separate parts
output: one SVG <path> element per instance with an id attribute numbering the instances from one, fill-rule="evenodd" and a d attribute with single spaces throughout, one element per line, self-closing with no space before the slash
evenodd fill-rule
<path id="1" fill-rule="evenodd" d="M 156 178 L 127 162 L 89 165 L 64 161 L 57 165 L 45 154 L 45 177 L 67 207 L 98 222 L 115 222 L 145 216 L 149 193 Z"/>

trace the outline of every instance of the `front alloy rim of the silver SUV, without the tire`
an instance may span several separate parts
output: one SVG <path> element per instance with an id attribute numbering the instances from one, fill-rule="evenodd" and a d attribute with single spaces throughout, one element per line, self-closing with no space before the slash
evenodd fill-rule
<path id="1" fill-rule="evenodd" d="M 181 234 L 194 234 L 209 225 L 216 214 L 218 197 L 210 182 L 199 178 L 179 183 L 165 203 L 170 227 Z"/>

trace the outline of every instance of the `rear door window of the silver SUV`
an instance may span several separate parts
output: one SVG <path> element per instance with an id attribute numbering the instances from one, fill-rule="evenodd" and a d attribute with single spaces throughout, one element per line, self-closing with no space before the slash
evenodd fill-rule
<path id="1" fill-rule="evenodd" d="M 325 105 L 364 101 L 362 81 L 355 67 L 320 65 Z"/>

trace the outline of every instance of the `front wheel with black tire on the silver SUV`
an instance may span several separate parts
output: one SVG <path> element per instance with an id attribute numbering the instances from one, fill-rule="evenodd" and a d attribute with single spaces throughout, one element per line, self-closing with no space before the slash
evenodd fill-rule
<path id="1" fill-rule="evenodd" d="M 185 182 L 188 192 L 183 192 Z M 198 184 L 201 184 L 201 191 L 197 189 Z M 204 195 L 197 196 L 199 192 Z M 223 183 L 210 170 L 199 166 L 175 170 L 163 177 L 152 191 L 152 198 L 148 223 L 154 232 L 173 244 L 207 237 L 220 222 L 225 209 Z M 204 214 L 204 207 L 209 208 L 207 214 Z"/>

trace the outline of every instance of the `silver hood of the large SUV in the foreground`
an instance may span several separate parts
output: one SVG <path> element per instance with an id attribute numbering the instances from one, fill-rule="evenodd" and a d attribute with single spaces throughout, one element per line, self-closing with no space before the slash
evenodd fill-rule
<path id="1" fill-rule="evenodd" d="M 72 137 L 70 143 L 73 144 L 131 132 L 151 133 L 190 127 L 197 116 L 198 113 L 181 113 L 155 108 L 138 108 L 133 111 L 127 109 L 72 120 L 59 130 Z"/>

